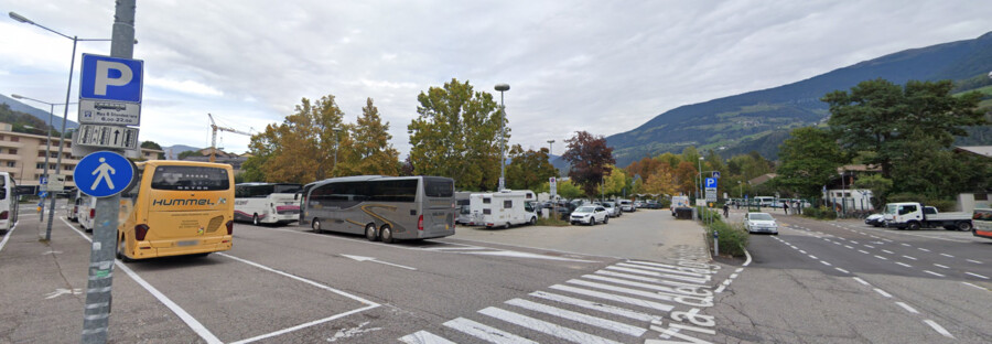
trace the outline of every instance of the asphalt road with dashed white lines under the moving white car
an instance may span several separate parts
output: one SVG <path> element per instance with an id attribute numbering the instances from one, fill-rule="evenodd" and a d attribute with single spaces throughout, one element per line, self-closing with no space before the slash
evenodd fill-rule
<path id="1" fill-rule="evenodd" d="M 992 342 L 992 240 L 775 215 L 716 298 L 726 342 Z"/>

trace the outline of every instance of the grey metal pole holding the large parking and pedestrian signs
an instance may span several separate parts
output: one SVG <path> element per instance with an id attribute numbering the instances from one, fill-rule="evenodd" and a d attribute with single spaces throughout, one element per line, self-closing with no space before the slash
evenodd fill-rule
<path id="1" fill-rule="evenodd" d="M 131 58 L 133 56 L 134 6 L 136 0 L 117 0 L 110 43 L 110 55 L 114 57 Z M 99 180 L 97 181 L 99 182 Z M 78 185 L 77 187 L 87 186 Z M 86 284 L 86 304 L 83 318 L 82 342 L 84 344 L 107 343 L 119 212 L 120 194 L 97 198 L 93 249 L 89 252 L 89 280 Z"/>

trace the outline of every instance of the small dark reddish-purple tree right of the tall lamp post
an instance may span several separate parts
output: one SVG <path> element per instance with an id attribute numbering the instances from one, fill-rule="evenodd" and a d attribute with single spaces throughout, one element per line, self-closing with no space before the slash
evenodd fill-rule
<path id="1" fill-rule="evenodd" d="M 569 178 L 572 183 L 582 186 L 586 196 L 594 197 L 599 194 L 600 183 L 612 171 L 611 165 L 616 163 L 613 148 L 606 146 L 606 138 L 595 137 L 586 131 L 575 132 L 565 143 L 569 150 L 561 158 L 571 165 Z"/>

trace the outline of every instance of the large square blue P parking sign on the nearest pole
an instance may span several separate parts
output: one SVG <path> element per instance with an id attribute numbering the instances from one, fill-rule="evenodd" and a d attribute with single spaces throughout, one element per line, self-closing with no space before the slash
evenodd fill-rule
<path id="1" fill-rule="evenodd" d="M 83 54 L 79 98 L 141 104 L 144 62 Z"/>

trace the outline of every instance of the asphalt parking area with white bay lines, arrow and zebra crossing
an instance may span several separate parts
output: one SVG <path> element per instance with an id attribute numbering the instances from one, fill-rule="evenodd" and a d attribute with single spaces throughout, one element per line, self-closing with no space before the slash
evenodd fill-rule
<path id="1" fill-rule="evenodd" d="M 712 326 L 703 313 L 712 307 L 716 276 L 725 272 L 707 264 L 704 250 L 658 245 L 667 241 L 660 233 L 691 225 L 664 225 L 669 218 L 662 211 L 639 212 L 608 225 L 544 227 L 559 235 L 529 246 L 513 241 L 540 227 L 460 228 L 464 235 L 386 245 L 298 226 L 237 224 L 227 252 L 118 262 L 109 337 L 643 343 L 677 327 L 671 314 Z M 58 219 L 46 244 L 37 240 L 42 227 L 36 214 L 22 213 L 0 247 L 0 276 L 17 277 L 0 282 L 0 342 L 78 341 L 89 235 Z M 568 251 L 589 247 L 574 240 L 576 233 L 640 238 L 650 247 L 633 255 L 664 251 L 666 258 L 624 258 L 629 240 L 600 245 L 595 255 Z"/>

